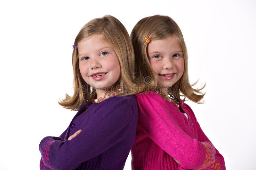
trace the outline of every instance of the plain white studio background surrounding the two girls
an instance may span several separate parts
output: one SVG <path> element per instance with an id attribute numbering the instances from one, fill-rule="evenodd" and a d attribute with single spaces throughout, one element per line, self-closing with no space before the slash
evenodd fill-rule
<path id="1" fill-rule="evenodd" d="M 177 22 L 190 82 L 206 82 L 205 103 L 187 103 L 227 169 L 256 169 L 255 9 L 252 0 L 1 1 L 0 169 L 39 169 L 41 139 L 68 127 L 76 112 L 57 101 L 73 92 L 71 45 L 85 23 L 106 14 L 128 33 L 154 14 Z"/>

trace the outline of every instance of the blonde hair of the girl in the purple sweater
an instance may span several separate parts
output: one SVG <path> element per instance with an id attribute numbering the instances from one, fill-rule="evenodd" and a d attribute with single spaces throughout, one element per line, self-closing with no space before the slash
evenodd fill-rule
<path id="1" fill-rule="evenodd" d="M 122 95 L 135 94 L 134 51 L 129 34 L 123 24 L 110 15 L 92 19 L 79 31 L 74 45 L 77 46 L 81 40 L 92 35 L 100 35 L 115 50 L 121 70 L 121 76 L 116 84 L 124 92 Z M 87 84 L 81 76 L 77 49 L 73 50 L 72 64 L 74 94 L 72 97 L 66 94 L 65 99 L 60 100 L 59 104 L 70 110 L 78 110 L 86 100 L 91 103 L 92 99 L 96 98 L 96 90 Z"/>

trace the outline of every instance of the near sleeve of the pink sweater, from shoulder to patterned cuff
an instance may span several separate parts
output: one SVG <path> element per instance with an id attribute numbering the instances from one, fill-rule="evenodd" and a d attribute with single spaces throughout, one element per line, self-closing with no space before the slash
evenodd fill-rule
<path id="1" fill-rule="evenodd" d="M 175 122 L 172 110 L 155 93 L 137 94 L 138 124 L 165 152 L 185 169 L 204 169 L 215 161 L 215 148 L 188 136 Z"/>

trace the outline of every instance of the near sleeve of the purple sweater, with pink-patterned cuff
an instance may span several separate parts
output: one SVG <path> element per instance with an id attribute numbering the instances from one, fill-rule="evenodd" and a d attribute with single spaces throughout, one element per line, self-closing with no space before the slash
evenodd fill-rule
<path id="1" fill-rule="evenodd" d="M 118 143 L 135 116 L 137 104 L 134 97 L 133 101 L 119 96 L 114 98 L 109 99 L 112 103 L 99 107 L 96 113 L 87 113 L 93 114 L 92 118 L 72 140 L 45 137 L 39 144 L 45 166 L 51 169 L 75 169 Z"/>

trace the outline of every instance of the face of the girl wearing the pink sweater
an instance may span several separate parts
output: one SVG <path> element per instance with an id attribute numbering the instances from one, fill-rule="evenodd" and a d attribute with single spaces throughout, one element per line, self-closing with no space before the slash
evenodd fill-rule
<path id="1" fill-rule="evenodd" d="M 175 36 L 148 44 L 149 62 L 156 75 L 157 85 L 167 88 L 174 85 L 184 72 L 184 58 Z"/>

